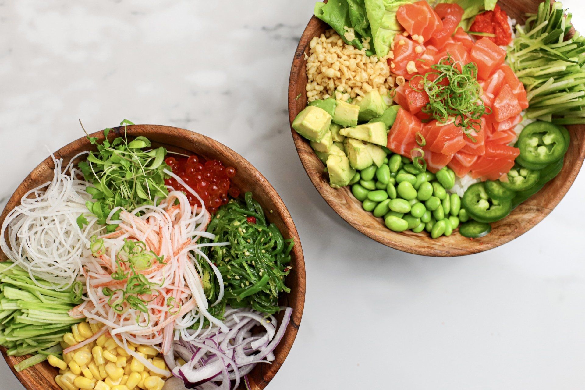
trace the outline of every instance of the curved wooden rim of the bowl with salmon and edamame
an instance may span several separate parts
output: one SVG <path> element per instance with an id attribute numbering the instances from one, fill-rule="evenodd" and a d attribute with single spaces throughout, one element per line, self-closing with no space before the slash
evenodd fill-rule
<path id="1" fill-rule="evenodd" d="M 324 2 L 326 1 L 327 0 L 325 0 Z M 540 2 L 541 1 L 538 0 L 536 1 L 536 4 Z M 306 62 L 305 52 L 308 49 L 311 39 L 315 36 L 312 32 L 317 31 L 320 34 L 320 31 L 323 26 L 327 26 L 325 22 L 316 18 L 315 15 L 311 17 L 301 35 L 301 39 L 299 41 L 297 50 L 295 51 L 295 55 L 292 60 L 290 78 L 288 82 L 288 116 L 290 122 L 290 130 L 292 139 L 295 144 L 295 149 L 297 149 L 297 154 L 301 160 L 302 166 L 305 172 L 307 172 L 307 175 L 311 180 L 312 184 L 314 185 L 314 187 L 316 188 L 316 190 L 319 192 L 322 198 L 325 199 L 329 206 L 331 206 L 331 208 L 343 220 L 345 220 L 345 222 L 355 227 L 355 229 L 357 229 L 359 232 L 377 241 L 378 243 L 384 244 L 385 246 L 411 254 L 432 257 L 466 256 L 468 254 L 481 253 L 483 251 L 494 249 L 495 247 L 508 243 L 509 241 L 514 240 L 517 237 L 521 236 L 522 234 L 528 232 L 528 230 L 532 229 L 532 227 L 536 226 L 539 222 L 541 222 L 541 220 L 543 220 L 559 204 L 559 202 L 566 195 L 567 191 L 569 191 L 569 188 L 571 187 L 575 178 L 577 177 L 581 165 L 583 164 L 583 160 L 585 159 L 585 140 L 581 141 L 579 145 L 577 160 L 572 165 L 572 167 L 567 168 L 567 164 L 563 166 L 563 171 L 566 171 L 567 169 L 569 169 L 570 171 L 566 173 L 567 178 L 565 184 L 562 186 L 562 188 L 560 188 L 560 191 L 556 194 L 553 202 L 549 204 L 550 207 L 542 206 L 538 202 L 532 204 L 531 199 L 534 199 L 539 194 L 545 192 L 546 189 L 550 187 L 550 184 L 552 182 L 558 181 L 562 176 L 563 171 L 556 178 L 550 181 L 545 188 L 541 189 L 541 191 L 539 191 L 536 195 L 532 196 L 531 199 L 519 205 L 518 208 L 516 208 L 512 212 L 526 213 L 527 215 L 532 215 L 531 217 L 529 217 L 528 221 L 529 223 L 522 223 L 519 228 L 518 227 L 510 228 L 509 229 L 510 234 L 507 234 L 504 237 L 498 237 L 498 240 L 490 239 L 490 236 L 493 235 L 492 233 L 488 234 L 487 236 L 481 239 L 474 240 L 475 244 L 473 246 L 470 245 L 467 248 L 462 249 L 460 245 L 449 244 L 449 242 L 455 241 L 453 237 L 456 237 L 456 235 L 453 234 L 450 237 L 441 237 L 438 240 L 433 240 L 432 243 L 425 242 L 424 246 L 419 246 L 418 244 L 421 243 L 421 241 L 432 240 L 425 232 L 412 233 L 409 231 L 404 233 L 396 233 L 387 229 L 385 226 L 384 229 L 386 231 L 380 232 L 379 229 L 371 229 L 370 227 L 364 226 L 361 223 L 359 223 L 356 219 L 353 218 L 349 210 L 345 207 L 344 203 L 339 202 L 339 200 L 343 198 L 344 195 L 342 193 L 345 192 L 345 196 L 349 196 L 349 198 L 352 198 L 353 202 L 357 202 L 359 203 L 359 205 L 361 205 L 361 202 L 357 201 L 357 199 L 353 197 L 351 191 L 349 190 L 349 187 L 337 189 L 335 191 L 335 194 L 327 194 L 325 192 L 326 188 L 324 189 L 324 185 L 329 187 L 328 182 L 324 180 L 321 174 L 312 170 L 312 168 L 315 167 L 315 164 L 317 165 L 321 164 L 321 167 L 323 168 L 325 167 L 325 165 L 318 159 L 318 157 L 316 157 L 315 153 L 304 153 L 307 150 L 307 148 L 310 149 L 308 140 L 301 137 L 297 132 L 295 132 L 294 129 L 292 129 L 292 121 L 294 120 L 296 113 L 298 113 L 297 101 L 300 98 L 298 91 L 300 91 L 300 94 L 304 98 L 304 101 L 306 101 L 307 96 L 307 92 L 304 88 L 304 85 L 300 89 L 295 88 L 298 87 L 297 75 L 300 74 L 300 72 L 305 71 Z M 574 29 L 571 30 L 570 34 L 572 35 L 572 33 L 574 33 Z M 585 132 L 585 125 L 567 126 L 567 128 L 572 132 L 572 135 L 575 132 Z M 575 137 L 573 136 L 572 143 L 575 142 L 574 140 Z M 371 215 L 371 213 L 367 213 L 364 210 L 362 210 L 362 212 L 364 219 L 377 220 L 378 223 L 381 223 L 383 225 L 383 220 L 381 218 L 375 218 L 373 215 Z M 492 224 L 493 230 L 495 230 L 499 226 L 509 227 L 507 226 L 507 220 L 509 218 L 510 216 L 507 216 L 503 220 L 493 223 Z M 461 244 L 461 241 L 459 241 L 459 244 Z"/>

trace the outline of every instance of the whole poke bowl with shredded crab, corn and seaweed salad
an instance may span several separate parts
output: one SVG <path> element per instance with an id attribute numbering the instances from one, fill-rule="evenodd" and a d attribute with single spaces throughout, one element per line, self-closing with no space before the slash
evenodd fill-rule
<path id="1" fill-rule="evenodd" d="M 111 148 L 119 150 L 121 156 L 146 159 L 140 160 L 138 166 L 142 168 L 134 176 L 128 175 L 130 188 L 132 182 L 140 183 L 146 178 L 141 173 L 148 175 L 143 182 L 144 192 L 139 190 L 142 198 L 136 198 L 143 205 L 135 205 L 139 207 L 132 212 L 126 211 L 131 209 L 132 197 L 121 191 L 123 184 L 118 181 L 125 175 L 106 177 L 95 163 L 120 161 L 116 153 L 108 154 Z M 95 172 L 84 171 L 84 163 L 90 172 Z M 122 167 L 118 165 L 118 169 Z M 94 179 L 101 175 L 107 183 L 97 180 L 89 184 L 92 174 Z M 166 189 L 155 197 L 157 183 L 163 180 L 162 187 Z M 207 184 L 201 185 L 201 181 Z M 211 188 L 214 184 L 220 187 L 222 181 L 225 188 Z M 115 202 L 122 203 L 113 203 L 114 209 L 105 206 L 105 187 L 119 191 L 114 198 L 117 196 Z M 68 191 L 54 192 L 55 188 Z M 48 195 L 50 191 L 54 194 Z M 61 196 L 70 196 L 65 202 L 70 207 L 67 212 L 57 210 L 63 207 L 56 201 Z M 39 200 L 49 202 L 53 211 L 44 215 L 40 209 L 36 212 L 46 206 Z M 98 202 L 104 206 L 105 215 L 92 208 Z M 71 206 L 75 203 L 81 209 Z M 122 207 L 116 210 L 120 204 Z M 69 218 L 75 210 L 80 216 Z M 60 213 L 67 218 L 60 219 Z M 75 232 L 85 234 L 91 231 L 92 224 L 98 229 L 92 237 L 86 237 L 88 248 L 75 253 L 85 260 L 74 279 L 67 279 L 71 275 L 64 270 L 70 265 L 62 251 L 60 263 L 51 265 L 49 258 L 43 258 L 59 245 L 58 239 L 54 239 L 53 246 L 40 245 L 53 233 L 44 233 L 43 240 L 19 239 L 25 229 L 22 225 L 43 230 L 54 221 L 68 234 L 69 244 Z M 172 225 L 167 233 L 164 221 Z M 294 222 L 280 196 L 256 168 L 206 136 L 176 127 L 128 122 L 126 126 L 89 134 L 56 151 L 32 171 L 9 199 L 0 223 L 0 289 L 3 299 L 9 296 L 13 303 L 13 307 L 2 307 L 0 349 L 28 390 L 160 390 L 163 386 L 263 389 L 292 347 L 305 295 L 304 258 Z M 99 230 L 97 226 L 104 223 L 104 230 Z M 153 239 L 153 232 L 160 238 Z M 186 237 L 187 241 L 177 250 L 179 241 L 167 241 L 166 234 Z M 113 245 L 120 239 L 120 246 Z M 164 249 L 165 242 L 170 249 Z M 111 245 L 113 252 L 108 249 Z M 37 252 L 33 254 L 29 246 Z M 37 256 L 36 264 L 44 268 L 35 268 L 20 258 L 14 251 L 16 247 L 29 258 Z M 109 257 L 115 259 L 111 263 L 116 265 L 108 264 Z M 11 267 L 7 267 L 7 260 L 13 263 Z M 98 262 L 98 268 L 91 265 L 92 261 Z M 272 268 L 264 268 L 265 265 Z M 157 272 L 162 272 L 161 279 L 153 279 Z M 193 272 L 192 277 L 189 272 Z M 99 283 L 94 284 L 98 274 Z M 180 282 L 181 278 L 185 282 Z M 280 281 L 275 284 L 277 278 Z M 104 298 L 99 298 L 101 294 L 105 294 Z M 118 298 L 114 300 L 114 296 Z M 188 317 L 190 313 L 192 317 Z M 29 332 L 30 342 L 18 332 L 15 335 L 16 328 Z M 236 337 L 239 343 L 235 343 Z M 238 346 L 242 349 L 238 350 Z M 193 363 L 195 360 L 197 363 Z M 264 361 L 270 364 L 261 364 Z M 215 371 L 218 364 L 221 367 Z M 215 372 L 210 375 L 209 370 Z"/>

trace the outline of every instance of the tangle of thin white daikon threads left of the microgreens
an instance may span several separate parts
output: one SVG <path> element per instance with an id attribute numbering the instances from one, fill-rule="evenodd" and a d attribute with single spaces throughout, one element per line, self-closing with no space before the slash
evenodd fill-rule
<path id="1" fill-rule="evenodd" d="M 35 277 L 51 282 L 56 290 L 73 284 L 81 272 L 82 258 L 91 256 L 89 237 L 102 229 L 85 206 L 91 201 L 85 192 L 90 184 L 78 179 L 81 172 L 73 167 L 73 160 L 86 153 L 71 158 L 63 169 L 63 159 L 56 160 L 51 154 L 53 180 L 27 192 L 8 213 L 0 232 L 0 249 L 6 256 L 27 270 L 37 284 Z M 81 215 L 88 221 L 82 229 L 77 224 Z"/>

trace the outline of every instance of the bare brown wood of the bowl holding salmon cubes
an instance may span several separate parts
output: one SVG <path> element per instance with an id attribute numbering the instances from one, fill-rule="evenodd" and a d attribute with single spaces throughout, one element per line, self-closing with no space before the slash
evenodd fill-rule
<path id="1" fill-rule="evenodd" d="M 536 12 L 540 2 L 539 0 L 500 0 L 498 4 L 508 12 L 511 18 L 516 19 L 518 23 L 523 23 L 525 13 Z M 288 116 L 291 125 L 295 116 L 307 105 L 305 53 L 309 53 L 309 42 L 329 28 L 325 22 L 313 16 L 302 33 L 292 61 L 288 84 Z M 571 134 L 571 144 L 565 156 L 565 166 L 560 174 L 546 184 L 542 191 L 518 206 L 507 218 L 491 224 L 490 234 L 474 240 L 466 239 L 460 234 L 433 240 L 425 232 L 392 232 L 384 225 L 381 218 L 375 218 L 362 209 L 361 202 L 352 195 L 349 187 L 331 188 L 328 176 L 323 172 L 325 165 L 317 158 L 309 142 L 292 130 L 292 127 L 291 133 L 298 156 L 313 185 L 331 208 L 347 223 L 371 239 L 394 249 L 425 256 L 462 256 L 493 249 L 521 236 L 541 222 L 559 204 L 577 177 L 585 158 L 585 126 L 568 126 L 568 129 Z"/>

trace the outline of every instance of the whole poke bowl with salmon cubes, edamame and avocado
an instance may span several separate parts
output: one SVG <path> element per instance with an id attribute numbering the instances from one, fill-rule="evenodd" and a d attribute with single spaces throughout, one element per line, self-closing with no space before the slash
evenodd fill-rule
<path id="1" fill-rule="evenodd" d="M 583 39 L 562 4 L 344 3 L 316 4 L 288 89 L 295 147 L 331 208 L 425 256 L 493 249 L 541 222 L 585 158 Z"/>

